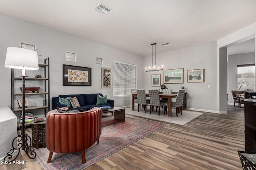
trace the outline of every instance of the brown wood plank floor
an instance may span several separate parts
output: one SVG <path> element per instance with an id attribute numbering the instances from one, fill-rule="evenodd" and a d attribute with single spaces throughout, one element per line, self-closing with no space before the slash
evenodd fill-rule
<path id="1" fill-rule="evenodd" d="M 237 150 L 244 150 L 244 108 L 228 114 L 204 113 L 185 125 L 166 125 L 86 170 L 242 170 Z M 22 166 L 1 170 L 43 169 L 24 153 Z"/>

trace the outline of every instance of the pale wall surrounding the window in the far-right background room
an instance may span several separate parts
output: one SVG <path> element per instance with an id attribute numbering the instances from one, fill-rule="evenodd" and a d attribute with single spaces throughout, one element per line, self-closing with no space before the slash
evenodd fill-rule
<path id="1" fill-rule="evenodd" d="M 254 64 L 255 53 L 244 53 L 228 56 L 228 104 L 234 104 L 231 90 L 237 89 L 237 65 Z"/>

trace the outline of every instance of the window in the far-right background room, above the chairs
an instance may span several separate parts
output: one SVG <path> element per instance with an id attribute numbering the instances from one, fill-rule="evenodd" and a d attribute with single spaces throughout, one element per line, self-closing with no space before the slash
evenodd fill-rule
<path id="1" fill-rule="evenodd" d="M 255 91 L 255 64 L 237 66 L 237 89 Z"/>

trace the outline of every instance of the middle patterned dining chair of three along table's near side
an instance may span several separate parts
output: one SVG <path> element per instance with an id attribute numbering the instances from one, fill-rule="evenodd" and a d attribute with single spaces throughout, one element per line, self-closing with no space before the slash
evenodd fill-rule
<path id="1" fill-rule="evenodd" d="M 158 115 L 160 115 L 160 106 L 164 106 L 164 103 L 168 103 L 168 101 L 160 100 L 159 90 L 148 90 L 150 97 L 150 114 L 152 111 L 152 107 L 156 106 L 156 111 L 158 109 Z"/>

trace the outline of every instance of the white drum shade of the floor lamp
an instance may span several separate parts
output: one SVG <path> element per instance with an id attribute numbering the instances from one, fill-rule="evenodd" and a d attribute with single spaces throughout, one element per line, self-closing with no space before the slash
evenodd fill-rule
<path id="1" fill-rule="evenodd" d="M 30 49 L 8 47 L 4 66 L 26 70 L 38 70 L 37 52 Z"/>

